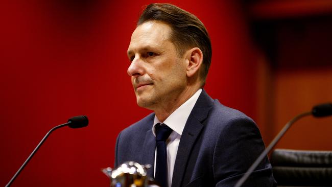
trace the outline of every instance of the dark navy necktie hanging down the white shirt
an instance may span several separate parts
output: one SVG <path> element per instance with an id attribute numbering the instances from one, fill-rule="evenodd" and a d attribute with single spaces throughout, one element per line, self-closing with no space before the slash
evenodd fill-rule
<path id="1" fill-rule="evenodd" d="M 157 147 L 157 159 L 156 159 L 156 173 L 154 180 L 158 182 L 161 187 L 167 187 L 167 150 L 166 140 L 172 133 L 172 129 L 167 125 L 155 125 L 156 129 L 156 147 Z"/>

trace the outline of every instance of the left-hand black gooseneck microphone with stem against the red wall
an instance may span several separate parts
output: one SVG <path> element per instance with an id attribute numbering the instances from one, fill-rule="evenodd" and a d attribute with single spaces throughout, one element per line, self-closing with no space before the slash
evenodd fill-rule
<path id="1" fill-rule="evenodd" d="M 89 120 L 87 118 L 86 115 L 78 115 L 78 116 L 74 116 L 73 118 L 70 118 L 67 123 L 64 123 L 62 125 L 58 125 L 53 127 L 48 133 L 46 133 L 46 135 L 41 139 L 41 141 L 39 142 L 39 144 L 37 145 L 37 147 L 32 151 L 32 153 L 30 154 L 30 156 L 27 158 L 27 160 L 22 164 L 22 166 L 17 170 L 17 172 L 15 173 L 15 175 L 12 177 L 12 179 L 10 179 L 10 181 L 8 182 L 8 184 L 6 185 L 6 187 L 9 187 L 13 181 L 15 180 L 15 178 L 18 176 L 18 174 L 23 170 L 23 168 L 27 165 L 27 163 L 30 161 L 30 159 L 32 158 L 32 156 L 37 152 L 37 150 L 40 148 L 40 146 L 45 142 L 46 138 L 51 134 L 51 132 L 53 132 L 54 130 L 64 127 L 64 126 L 69 126 L 70 128 L 81 128 L 81 127 L 86 127 L 89 123 Z"/>

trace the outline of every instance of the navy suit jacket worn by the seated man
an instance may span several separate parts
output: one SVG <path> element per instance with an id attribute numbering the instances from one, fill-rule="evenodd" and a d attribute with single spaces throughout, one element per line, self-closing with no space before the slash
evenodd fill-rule
<path id="1" fill-rule="evenodd" d="M 149 163 L 153 177 L 154 113 L 124 129 L 115 146 L 115 166 Z M 211 99 L 203 90 L 181 135 L 172 187 L 234 186 L 265 149 L 256 124 L 244 113 Z M 275 186 L 266 157 L 243 186 Z"/>

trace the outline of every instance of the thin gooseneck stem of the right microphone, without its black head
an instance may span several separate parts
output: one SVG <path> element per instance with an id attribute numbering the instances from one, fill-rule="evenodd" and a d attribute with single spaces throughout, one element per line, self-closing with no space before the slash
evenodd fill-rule
<path id="1" fill-rule="evenodd" d="M 242 176 L 242 178 L 235 184 L 235 187 L 241 187 L 241 185 L 247 180 L 247 178 L 250 176 L 250 174 L 256 169 L 256 167 L 259 165 L 260 161 L 263 160 L 263 158 L 271 151 L 271 149 L 278 143 L 281 136 L 283 136 L 284 133 L 296 122 L 298 119 L 302 118 L 306 115 L 311 115 L 313 112 L 304 112 L 297 116 L 295 116 L 291 121 L 289 121 L 282 129 L 281 131 L 275 136 L 275 138 L 272 140 L 270 145 L 258 156 L 256 161 L 251 165 L 251 167 L 247 170 L 247 172 Z"/>

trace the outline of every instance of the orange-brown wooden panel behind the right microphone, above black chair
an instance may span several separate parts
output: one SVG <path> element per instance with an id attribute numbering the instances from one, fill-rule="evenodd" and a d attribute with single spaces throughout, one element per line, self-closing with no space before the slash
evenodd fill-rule
<path id="1" fill-rule="evenodd" d="M 276 134 L 295 115 L 318 103 L 332 102 L 332 69 L 279 71 L 275 80 Z M 286 133 L 278 148 L 332 150 L 332 117 L 301 119 Z"/>

